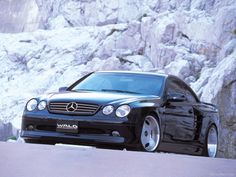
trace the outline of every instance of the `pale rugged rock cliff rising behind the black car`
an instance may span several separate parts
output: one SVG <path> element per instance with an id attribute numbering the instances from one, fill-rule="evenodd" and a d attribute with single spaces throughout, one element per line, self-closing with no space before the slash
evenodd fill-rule
<path id="1" fill-rule="evenodd" d="M 27 99 L 91 71 L 166 72 L 219 107 L 218 155 L 236 158 L 236 1 L 17 2 L 5 1 L 0 20 L 2 32 L 21 32 L 0 33 L 4 122 L 19 128 Z"/>

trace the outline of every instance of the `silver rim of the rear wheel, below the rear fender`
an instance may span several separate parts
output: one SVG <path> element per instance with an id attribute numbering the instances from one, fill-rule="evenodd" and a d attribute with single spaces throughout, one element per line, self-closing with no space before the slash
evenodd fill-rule
<path id="1" fill-rule="evenodd" d="M 209 157 L 215 157 L 217 153 L 218 135 L 216 128 L 212 126 L 209 129 L 207 137 L 207 151 Z"/>

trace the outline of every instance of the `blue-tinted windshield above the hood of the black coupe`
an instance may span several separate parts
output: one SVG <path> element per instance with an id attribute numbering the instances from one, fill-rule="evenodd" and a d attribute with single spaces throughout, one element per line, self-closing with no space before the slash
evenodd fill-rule
<path id="1" fill-rule="evenodd" d="M 72 91 L 121 92 L 160 96 L 163 76 L 133 73 L 93 73 Z"/>

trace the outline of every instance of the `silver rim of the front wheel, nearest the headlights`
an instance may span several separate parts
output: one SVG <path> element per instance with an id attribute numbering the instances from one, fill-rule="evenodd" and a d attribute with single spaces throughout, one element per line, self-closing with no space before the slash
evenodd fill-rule
<path id="1" fill-rule="evenodd" d="M 143 123 L 141 143 L 146 151 L 154 151 L 160 141 L 160 127 L 153 116 L 147 116 Z"/>

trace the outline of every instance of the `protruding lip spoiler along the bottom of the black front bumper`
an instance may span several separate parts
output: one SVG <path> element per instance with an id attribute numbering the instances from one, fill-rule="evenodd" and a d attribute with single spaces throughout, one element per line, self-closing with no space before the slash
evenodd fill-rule
<path id="1" fill-rule="evenodd" d="M 98 143 L 114 143 L 114 144 L 124 144 L 124 137 L 109 136 L 109 135 L 97 135 L 97 134 L 75 134 L 68 135 L 60 132 L 44 132 L 44 131 L 21 131 L 21 137 L 25 139 L 52 139 L 58 142 L 64 140 L 87 140 Z"/>

